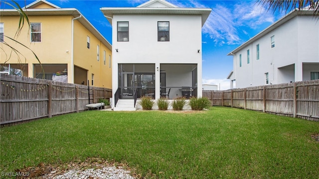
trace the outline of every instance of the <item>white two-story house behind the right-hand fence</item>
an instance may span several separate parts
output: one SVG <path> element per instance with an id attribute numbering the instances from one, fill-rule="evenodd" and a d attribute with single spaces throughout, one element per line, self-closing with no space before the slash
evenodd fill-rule
<path id="1" fill-rule="evenodd" d="M 319 21 L 294 10 L 230 52 L 236 88 L 319 79 Z M 231 88 L 232 84 L 231 84 Z"/>

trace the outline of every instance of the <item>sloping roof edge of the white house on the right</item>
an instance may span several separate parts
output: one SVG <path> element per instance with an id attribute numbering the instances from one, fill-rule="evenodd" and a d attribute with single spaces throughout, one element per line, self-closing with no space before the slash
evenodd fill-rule
<path id="1" fill-rule="evenodd" d="M 257 39 L 261 38 L 265 34 L 271 32 L 272 30 L 276 29 L 280 25 L 284 24 L 285 22 L 289 21 L 290 19 L 292 19 L 292 18 L 294 18 L 294 17 L 296 17 L 298 15 L 314 15 L 314 10 L 298 10 L 298 9 L 294 9 L 293 11 L 291 11 L 290 13 L 288 13 L 284 17 L 280 18 L 279 20 L 277 20 L 276 22 L 274 22 L 273 24 L 268 26 L 266 29 L 264 29 L 263 31 L 261 31 L 260 33 L 255 35 L 254 37 L 252 37 L 249 40 L 247 40 L 246 42 L 244 42 L 242 45 L 240 45 L 239 47 L 237 47 L 235 50 L 231 51 L 227 55 L 229 55 L 229 56 L 230 55 L 234 55 L 235 53 L 240 51 L 242 48 L 246 47 L 247 44 L 250 44 L 250 43 L 256 41 Z"/>

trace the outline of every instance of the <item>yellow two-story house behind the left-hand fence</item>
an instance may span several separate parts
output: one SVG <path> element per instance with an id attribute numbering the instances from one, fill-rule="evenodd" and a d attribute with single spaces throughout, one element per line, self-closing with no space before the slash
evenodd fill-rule
<path id="1" fill-rule="evenodd" d="M 23 9 L 31 27 L 24 22 L 18 36 L 18 12 L 0 9 L 1 71 L 10 68 L 25 77 L 44 76 L 83 85 L 89 81 L 90 86 L 112 88 L 112 45 L 76 8 L 60 8 L 46 0 L 36 0 Z M 32 52 L 8 37 L 15 37 L 36 54 L 44 75 Z M 20 55 L 12 53 L 3 41 Z M 57 72 L 63 75 L 54 75 Z"/>

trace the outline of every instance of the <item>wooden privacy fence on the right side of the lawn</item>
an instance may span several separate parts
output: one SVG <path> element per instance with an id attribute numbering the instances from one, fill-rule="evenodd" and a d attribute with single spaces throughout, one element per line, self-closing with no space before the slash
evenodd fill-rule
<path id="1" fill-rule="evenodd" d="M 279 85 L 203 91 L 212 105 L 258 110 L 319 121 L 319 80 Z"/>

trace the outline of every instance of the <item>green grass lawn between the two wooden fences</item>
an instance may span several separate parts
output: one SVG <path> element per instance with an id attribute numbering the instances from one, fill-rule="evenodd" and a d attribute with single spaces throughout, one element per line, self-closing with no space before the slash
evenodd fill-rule
<path id="1" fill-rule="evenodd" d="M 209 111 L 85 111 L 0 129 L 0 172 L 89 157 L 144 178 L 318 179 L 319 122 Z"/>

